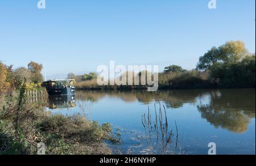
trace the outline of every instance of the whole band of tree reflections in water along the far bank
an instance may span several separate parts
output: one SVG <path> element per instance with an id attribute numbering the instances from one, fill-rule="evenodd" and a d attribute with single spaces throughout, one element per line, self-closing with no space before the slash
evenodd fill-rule
<path id="1" fill-rule="evenodd" d="M 251 118 L 255 118 L 255 89 L 234 90 L 170 90 L 170 91 L 77 91 L 77 100 L 99 101 L 103 97 L 122 99 L 126 103 L 150 104 L 162 101 L 167 108 L 181 108 L 184 104 L 196 104 L 214 127 L 244 133 Z M 201 104 L 200 99 L 208 99 Z"/>

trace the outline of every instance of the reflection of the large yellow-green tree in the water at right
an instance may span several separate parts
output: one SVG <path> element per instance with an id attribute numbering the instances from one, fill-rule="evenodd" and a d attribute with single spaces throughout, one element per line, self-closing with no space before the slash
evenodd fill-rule
<path id="1" fill-rule="evenodd" d="M 245 133 L 255 118 L 255 90 L 219 90 L 210 93 L 210 103 L 198 105 L 201 117 L 214 127 Z"/>

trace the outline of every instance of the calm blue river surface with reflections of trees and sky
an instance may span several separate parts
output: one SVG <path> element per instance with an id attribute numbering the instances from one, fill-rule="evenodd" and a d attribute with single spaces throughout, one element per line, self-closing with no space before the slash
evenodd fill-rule
<path id="1" fill-rule="evenodd" d="M 255 154 L 255 89 L 77 91 L 50 102 L 54 114 L 83 114 L 112 124 L 122 140 L 109 143 L 115 154 L 208 154 L 210 142 L 216 143 L 217 154 Z M 164 141 L 154 131 L 160 126 L 159 108 L 167 135 L 172 133 Z"/>

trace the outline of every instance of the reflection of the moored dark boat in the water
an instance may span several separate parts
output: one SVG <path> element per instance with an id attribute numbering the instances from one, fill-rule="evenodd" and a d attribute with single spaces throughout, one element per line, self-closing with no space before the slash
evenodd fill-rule
<path id="1" fill-rule="evenodd" d="M 49 109 L 76 107 L 75 94 L 49 96 Z"/>

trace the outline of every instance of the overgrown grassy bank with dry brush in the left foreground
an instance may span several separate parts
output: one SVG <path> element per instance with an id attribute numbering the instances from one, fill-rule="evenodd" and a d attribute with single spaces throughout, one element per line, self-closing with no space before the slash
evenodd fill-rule
<path id="1" fill-rule="evenodd" d="M 40 142 L 46 154 L 112 154 L 104 143 L 116 141 L 110 124 L 52 115 L 20 96 L 1 95 L 0 105 L 0 154 L 37 154 Z"/>

